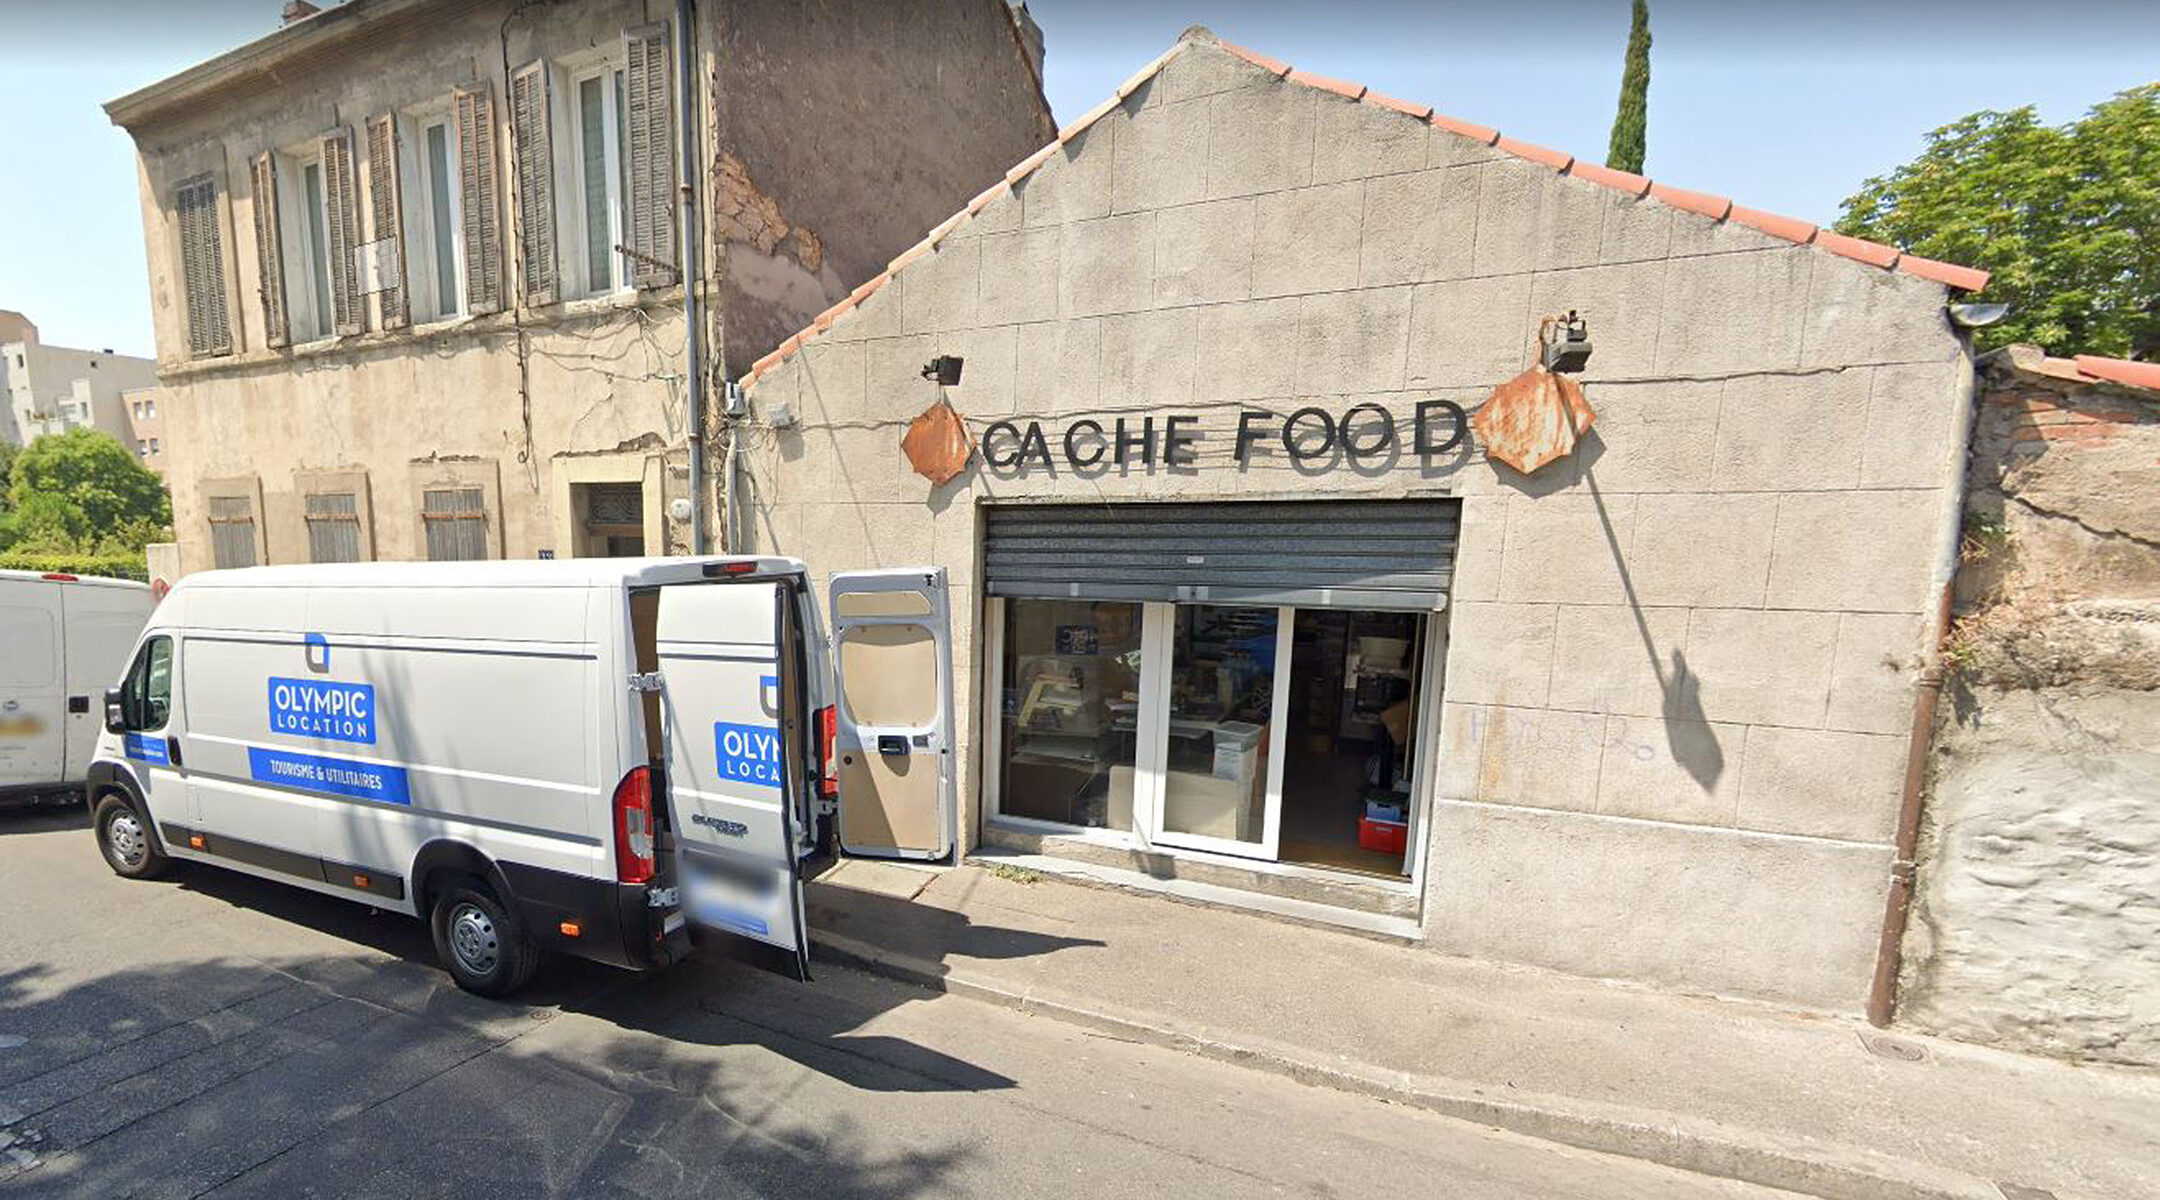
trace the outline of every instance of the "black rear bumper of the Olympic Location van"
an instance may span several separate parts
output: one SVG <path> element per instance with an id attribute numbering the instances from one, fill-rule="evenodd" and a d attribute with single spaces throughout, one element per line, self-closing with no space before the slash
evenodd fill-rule
<path id="1" fill-rule="evenodd" d="M 689 956 L 689 922 L 676 904 L 654 904 L 667 889 L 616 883 L 523 863 L 497 863 L 510 902 L 534 943 L 609 967 L 646 971 Z M 568 930 L 577 930 L 575 935 Z"/>

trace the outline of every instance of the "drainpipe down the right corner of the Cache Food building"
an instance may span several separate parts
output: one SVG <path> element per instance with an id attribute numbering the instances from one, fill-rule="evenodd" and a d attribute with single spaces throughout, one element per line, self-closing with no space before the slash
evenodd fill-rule
<path id="1" fill-rule="evenodd" d="M 1972 337 L 1963 343 L 1966 371 L 1957 395 L 1957 462 L 1950 466 L 1950 496 L 1935 535 L 1935 572 L 1929 596 L 1935 611 L 1927 624 L 1927 654 L 1920 686 L 1912 699 L 1912 738 L 1905 742 L 1905 786 L 1896 809 L 1896 857 L 1890 861 L 1890 896 L 1884 900 L 1881 939 L 1875 943 L 1875 980 L 1868 986 L 1868 1025 L 1890 1025 L 1896 1012 L 1896 976 L 1903 965 L 1905 922 L 1912 915 L 1914 855 L 1920 848 L 1920 796 L 1927 788 L 1927 753 L 1935 736 L 1935 704 L 1942 699 L 1942 639 L 1950 628 L 1950 585 L 1957 578 L 1957 550 L 1966 527 L 1966 475 L 1972 462 L 1972 423 L 1976 419 L 1976 384 Z"/>

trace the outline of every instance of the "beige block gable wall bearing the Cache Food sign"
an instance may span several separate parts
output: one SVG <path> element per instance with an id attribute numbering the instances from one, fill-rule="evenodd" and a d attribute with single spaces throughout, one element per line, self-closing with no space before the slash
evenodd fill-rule
<path id="1" fill-rule="evenodd" d="M 756 373 L 754 412 L 801 423 L 750 427 L 743 524 L 821 576 L 944 563 L 966 736 L 985 501 L 1460 496 L 1428 943 L 1860 1008 L 1968 371 L 1944 285 L 1205 41 L 903 259 Z M 1475 447 L 1233 460 L 1242 408 L 1475 408 L 1566 309 L 1598 421 L 1534 477 Z M 896 442 L 937 399 L 935 354 L 966 356 L 948 391 L 976 432 L 1192 412 L 1197 462 L 978 458 L 931 488 Z"/>

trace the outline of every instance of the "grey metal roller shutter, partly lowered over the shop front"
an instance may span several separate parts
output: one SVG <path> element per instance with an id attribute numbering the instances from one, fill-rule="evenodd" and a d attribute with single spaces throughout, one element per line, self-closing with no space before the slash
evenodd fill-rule
<path id="1" fill-rule="evenodd" d="M 1436 611 L 1458 501 L 991 505 L 991 596 Z"/>

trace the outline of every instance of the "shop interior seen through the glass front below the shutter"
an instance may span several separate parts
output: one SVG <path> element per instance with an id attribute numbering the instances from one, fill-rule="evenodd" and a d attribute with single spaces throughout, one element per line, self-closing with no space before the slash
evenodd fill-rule
<path id="1" fill-rule="evenodd" d="M 1007 606 L 1000 812 L 1130 831 L 1140 604 Z M 1169 624 L 1162 833 L 1259 853 L 1283 747 L 1277 859 L 1408 874 L 1417 613 L 1177 604 Z M 1287 688 L 1277 671 L 1287 639 Z M 1246 850 L 1240 850 L 1244 846 Z"/>

